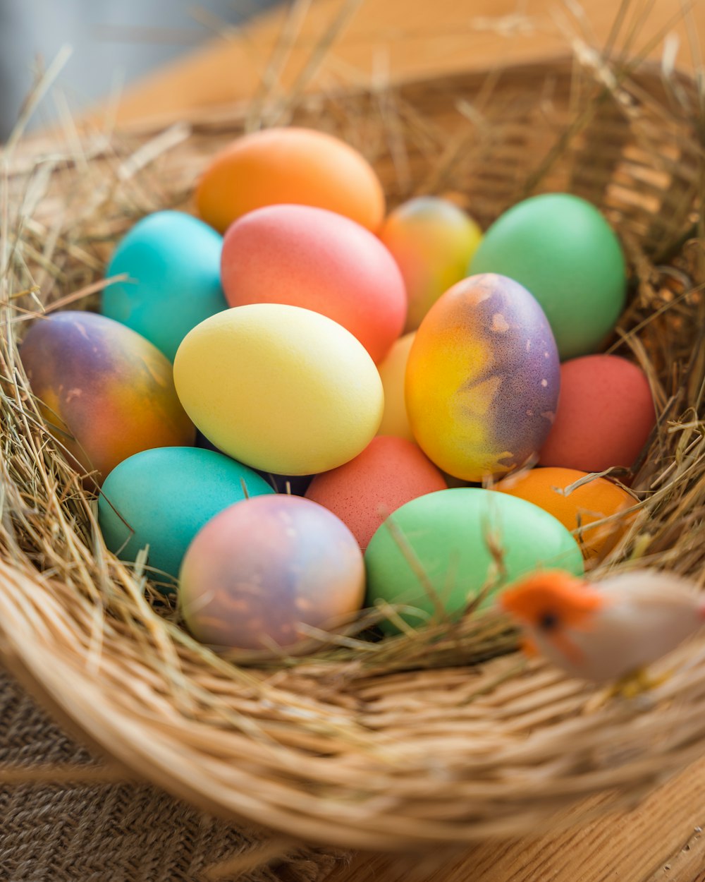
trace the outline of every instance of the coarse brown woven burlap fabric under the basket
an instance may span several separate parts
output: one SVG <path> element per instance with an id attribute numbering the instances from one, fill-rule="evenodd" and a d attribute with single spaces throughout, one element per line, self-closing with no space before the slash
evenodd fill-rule
<path id="1" fill-rule="evenodd" d="M 92 764 L 0 669 L 0 762 Z M 202 882 L 214 864 L 251 852 L 261 838 L 196 811 L 147 784 L 0 788 L 2 882 Z M 248 882 L 319 882 L 336 857 L 310 849 L 261 866 Z"/>

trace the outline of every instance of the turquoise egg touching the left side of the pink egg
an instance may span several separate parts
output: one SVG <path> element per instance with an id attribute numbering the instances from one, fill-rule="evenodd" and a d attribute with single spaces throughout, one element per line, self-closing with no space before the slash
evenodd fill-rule
<path id="1" fill-rule="evenodd" d="M 118 243 L 106 277 L 100 311 L 141 333 L 170 361 L 191 330 L 225 310 L 220 287 L 223 240 L 182 212 L 157 212 L 138 221 Z"/>

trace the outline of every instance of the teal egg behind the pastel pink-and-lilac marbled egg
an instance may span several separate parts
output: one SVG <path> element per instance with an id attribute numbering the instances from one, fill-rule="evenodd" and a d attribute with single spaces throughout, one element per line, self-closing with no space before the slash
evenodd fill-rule
<path id="1" fill-rule="evenodd" d="M 108 549 L 176 579 L 198 530 L 228 505 L 271 494 L 252 469 L 198 447 L 160 447 L 122 460 L 103 483 L 98 519 Z"/>

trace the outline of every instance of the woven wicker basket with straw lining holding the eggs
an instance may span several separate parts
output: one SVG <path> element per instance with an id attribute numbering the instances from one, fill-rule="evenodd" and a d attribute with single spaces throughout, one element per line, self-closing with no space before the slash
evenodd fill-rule
<path id="1" fill-rule="evenodd" d="M 601 566 L 702 584 L 701 108 L 686 78 L 582 47 L 561 63 L 263 103 L 166 131 L 79 138 L 69 127 L 65 141 L 10 144 L 0 652 L 109 758 L 48 777 L 145 777 L 285 840 L 395 849 L 575 823 L 596 811 L 589 796 L 599 811 L 630 804 L 701 754 L 705 639 L 666 660 L 671 676 L 649 694 L 603 704 L 525 662 L 491 613 L 382 642 L 341 636 L 258 666 L 217 658 L 155 601 L 144 562 L 128 568 L 104 549 L 95 501 L 42 424 L 17 354 L 28 320 L 90 308 L 115 238 L 144 213 L 188 210 L 212 153 L 256 121 L 334 131 L 374 161 L 392 204 L 453 192 L 483 225 L 532 192 L 575 192 L 627 250 L 631 296 L 612 351 L 647 371 L 658 413 L 628 476 L 637 517 Z"/>

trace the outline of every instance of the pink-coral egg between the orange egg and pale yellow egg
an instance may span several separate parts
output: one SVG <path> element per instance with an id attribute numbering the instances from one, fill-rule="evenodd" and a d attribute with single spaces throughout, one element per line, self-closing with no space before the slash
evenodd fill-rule
<path id="1" fill-rule="evenodd" d="M 235 221 L 223 242 L 227 302 L 288 303 L 320 312 L 360 340 L 373 361 L 404 327 L 404 280 L 360 224 L 310 206 L 269 206 Z"/>

